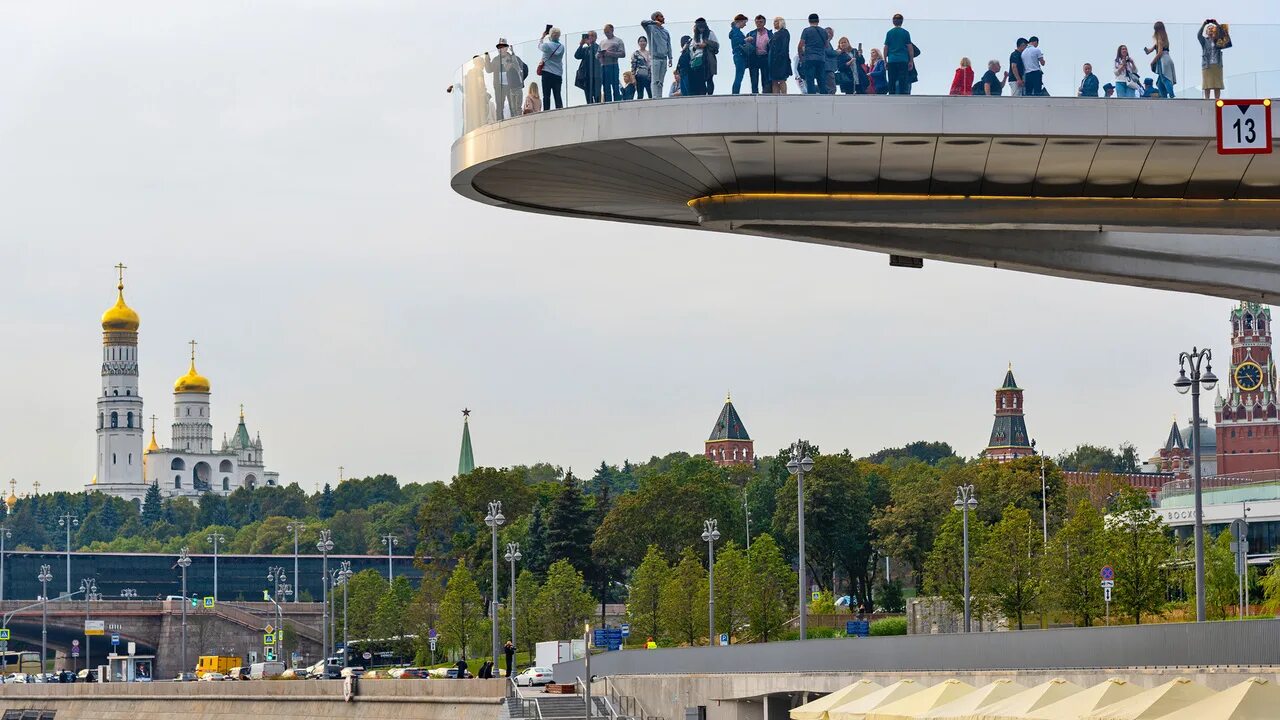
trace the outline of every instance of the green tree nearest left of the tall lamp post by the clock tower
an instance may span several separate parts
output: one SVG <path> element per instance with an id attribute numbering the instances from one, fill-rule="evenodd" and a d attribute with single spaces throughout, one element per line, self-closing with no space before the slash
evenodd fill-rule
<path id="1" fill-rule="evenodd" d="M 1144 492 L 1125 488 L 1112 505 L 1105 533 L 1107 564 L 1116 574 L 1116 607 L 1140 624 L 1142 615 L 1158 611 L 1165 600 L 1161 565 L 1169 559 L 1170 542 L 1164 523 Z"/>

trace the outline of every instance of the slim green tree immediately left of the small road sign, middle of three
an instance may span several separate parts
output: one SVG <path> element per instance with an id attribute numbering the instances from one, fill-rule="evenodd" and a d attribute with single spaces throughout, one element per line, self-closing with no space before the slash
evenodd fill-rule
<path id="1" fill-rule="evenodd" d="M 1082 500 L 1075 512 L 1050 539 L 1044 559 L 1044 589 L 1055 607 L 1069 612 L 1075 624 L 1089 626 L 1102 615 L 1098 573 L 1103 562 L 1102 514 Z"/>

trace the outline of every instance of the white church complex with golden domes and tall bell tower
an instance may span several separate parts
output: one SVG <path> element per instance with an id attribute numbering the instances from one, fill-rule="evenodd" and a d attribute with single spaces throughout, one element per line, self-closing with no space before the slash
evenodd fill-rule
<path id="1" fill-rule="evenodd" d="M 196 370 L 196 342 L 191 365 L 173 386 L 174 416 L 170 446 L 142 447 L 142 396 L 138 392 L 138 314 L 124 302 L 124 266 L 118 265 L 115 305 L 102 314 L 102 395 L 97 398 L 97 471 L 84 489 L 142 501 L 152 483 L 165 497 L 198 500 L 206 492 L 230 495 L 239 487 L 279 484 L 266 470 L 262 439 L 250 437 L 241 406 L 239 425 L 214 447 L 210 419 L 211 384 Z"/>

